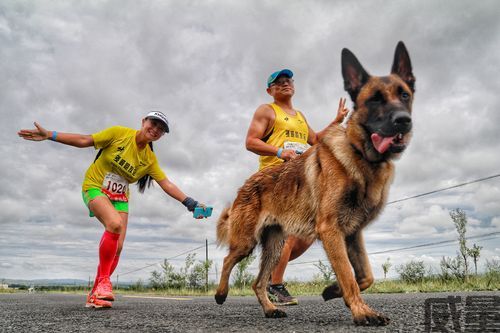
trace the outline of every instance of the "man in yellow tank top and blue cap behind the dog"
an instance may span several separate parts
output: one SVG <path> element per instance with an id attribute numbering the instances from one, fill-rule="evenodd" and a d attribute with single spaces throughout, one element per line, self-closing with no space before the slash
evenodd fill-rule
<path id="1" fill-rule="evenodd" d="M 314 145 L 323 132 L 314 132 L 304 115 L 295 110 L 292 97 L 295 93 L 293 73 L 283 69 L 272 73 L 267 80 L 267 93 L 274 99 L 271 104 L 257 108 L 246 138 L 246 148 L 259 157 L 259 170 L 296 158 L 309 145 Z M 339 101 L 338 123 L 347 114 L 345 99 Z M 288 237 L 281 258 L 271 274 L 269 285 L 270 299 L 280 305 L 296 305 L 298 300 L 292 297 L 283 285 L 283 275 L 288 262 L 302 255 L 312 243 L 296 237 Z"/>

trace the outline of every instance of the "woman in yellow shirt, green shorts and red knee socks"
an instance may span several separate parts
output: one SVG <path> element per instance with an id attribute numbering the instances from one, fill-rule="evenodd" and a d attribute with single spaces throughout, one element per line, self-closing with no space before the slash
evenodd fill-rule
<path id="1" fill-rule="evenodd" d="M 110 308 L 114 300 L 110 276 L 118 264 L 127 231 L 129 184 L 138 182 L 142 193 L 154 179 L 165 193 L 182 202 L 189 211 L 204 205 L 186 196 L 158 165 L 153 141 L 169 132 L 168 120 L 161 112 L 148 113 L 140 130 L 114 126 L 83 135 L 47 131 L 36 122 L 35 127 L 18 134 L 25 140 L 52 140 L 79 148 L 94 146 L 100 149 L 82 186 L 89 215 L 97 217 L 105 228 L 99 244 L 97 275 L 86 306 Z"/>

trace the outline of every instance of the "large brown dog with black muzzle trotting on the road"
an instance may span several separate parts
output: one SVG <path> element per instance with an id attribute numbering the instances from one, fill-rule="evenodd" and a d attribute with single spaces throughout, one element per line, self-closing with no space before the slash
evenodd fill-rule
<path id="1" fill-rule="evenodd" d="M 337 279 L 323 291 L 325 300 L 343 297 L 356 325 L 389 323 L 361 297 L 374 281 L 362 230 L 384 208 L 393 161 L 410 141 L 415 77 L 403 42 L 388 76 L 369 75 L 348 49 L 342 50 L 342 75 L 354 104 L 346 126 L 330 125 L 300 157 L 251 176 L 222 211 L 217 241 L 229 253 L 215 294 L 218 304 L 226 300 L 233 267 L 260 244 L 252 288 L 266 317 L 286 317 L 266 289 L 286 237 L 294 235 L 323 244 Z"/>

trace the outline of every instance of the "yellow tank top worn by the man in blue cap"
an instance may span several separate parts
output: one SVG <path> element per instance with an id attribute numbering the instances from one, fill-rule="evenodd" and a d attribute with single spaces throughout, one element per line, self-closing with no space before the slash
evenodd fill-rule
<path id="1" fill-rule="evenodd" d="M 295 116 L 291 116 L 275 103 L 269 104 L 275 114 L 274 126 L 266 133 L 262 141 L 283 149 L 294 149 L 304 152 L 309 146 L 309 127 L 299 111 Z M 277 156 L 260 156 L 259 170 L 283 163 Z"/>

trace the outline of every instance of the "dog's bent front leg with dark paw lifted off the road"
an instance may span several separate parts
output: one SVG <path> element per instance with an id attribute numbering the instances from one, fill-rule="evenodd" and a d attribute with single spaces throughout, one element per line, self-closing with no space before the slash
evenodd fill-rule
<path id="1" fill-rule="evenodd" d="M 346 238 L 347 254 L 349 261 L 354 268 L 356 282 L 361 291 L 367 289 L 373 284 L 373 273 L 366 253 L 365 243 L 362 231 L 358 231 L 352 236 Z M 342 290 L 337 282 L 332 283 L 323 290 L 321 294 L 325 301 L 333 298 L 342 297 Z"/>

